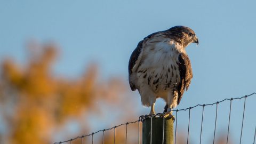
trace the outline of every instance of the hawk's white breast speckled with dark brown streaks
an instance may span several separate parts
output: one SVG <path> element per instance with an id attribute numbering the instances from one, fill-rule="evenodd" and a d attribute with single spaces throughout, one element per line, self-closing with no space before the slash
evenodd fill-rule
<path id="1" fill-rule="evenodd" d="M 174 90 L 180 82 L 177 61 L 181 46 L 166 38 L 166 41 L 148 43 L 146 47 L 137 70 L 138 85 L 148 84 L 156 94 Z"/>

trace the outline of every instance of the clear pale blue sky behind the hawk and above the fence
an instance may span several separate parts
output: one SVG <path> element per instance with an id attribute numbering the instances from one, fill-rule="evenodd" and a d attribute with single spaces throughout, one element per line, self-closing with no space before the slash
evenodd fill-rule
<path id="1" fill-rule="evenodd" d="M 97 61 L 103 77 L 118 75 L 127 81 L 127 63 L 137 43 L 155 31 L 183 25 L 196 32 L 199 46 L 187 47 L 194 78 L 178 108 L 243 96 L 256 90 L 255 1 L 12 0 L 0 3 L 0 60 L 9 55 L 22 63 L 26 59 L 27 40 L 53 40 L 61 47 L 56 74 L 76 77 L 89 62 Z M 256 102 L 255 98 L 251 102 Z M 249 108 L 255 109 L 251 104 Z M 237 108 L 240 106 L 243 107 Z M 162 107 L 157 107 L 158 112 Z M 252 143 L 255 115 L 251 113 L 250 120 L 245 121 L 248 130 L 244 135 L 250 135 L 245 143 Z"/>

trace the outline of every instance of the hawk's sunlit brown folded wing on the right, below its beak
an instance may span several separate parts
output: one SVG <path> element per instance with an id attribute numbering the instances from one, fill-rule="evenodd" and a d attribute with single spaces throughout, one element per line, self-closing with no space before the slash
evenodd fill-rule
<path id="1" fill-rule="evenodd" d="M 179 65 L 179 71 L 180 71 L 180 84 L 178 85 L 177 105 L 179 105 L 185 89 L 186 89 L 186 91 L 188 90 L 190 81 L 193 77 L 190 60 L 189 60 L 187 54 L 181 53 L 179 55 L 178 65 Z"/>

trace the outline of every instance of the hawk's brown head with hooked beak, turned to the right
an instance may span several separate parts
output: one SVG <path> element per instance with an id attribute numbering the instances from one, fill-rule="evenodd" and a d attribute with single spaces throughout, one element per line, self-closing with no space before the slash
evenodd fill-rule
<path id="1" fill-rule="evenodd" d="M 166 33 L 169 33 L 170 38 L 182 44 L 183 47 L 190 43 L 199 43 L 195 32 L 189 27 L 175 26 L 166 30 Z"/>

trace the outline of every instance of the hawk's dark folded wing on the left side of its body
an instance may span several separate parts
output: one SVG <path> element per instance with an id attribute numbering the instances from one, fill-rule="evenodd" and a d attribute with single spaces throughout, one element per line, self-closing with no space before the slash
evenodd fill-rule
<path id="1" fill-rule="evenodd" d="M 146 41 L 148 41 L 150 38 L 154 37 L 157 34 L 163 33 L 163 31 L 158 31 L 156 33 L 150 34 L 147 37 L 145 37 L 142 41 L 140 41 L 136 47 L 136 49 L 132 52 L 132 55 L 130 57 L 129 60 L 129 66 L 128 66 L 128 71 L 129 71 L 129 84 L 130 87 L 132 89 L 132 91 L 135 91 L 137 89 L 137 87 L 135 86 L 135 84 L 132 82 L 132 73 L 133 73 L 133 69 L 137 69 L 141 63 L 141 57 L 140 55 L 142 55 L 142 50 L 143 50 L 143 44 L 146 43 Z M 135 70 L 134 69 L 134 70 Z"/>

